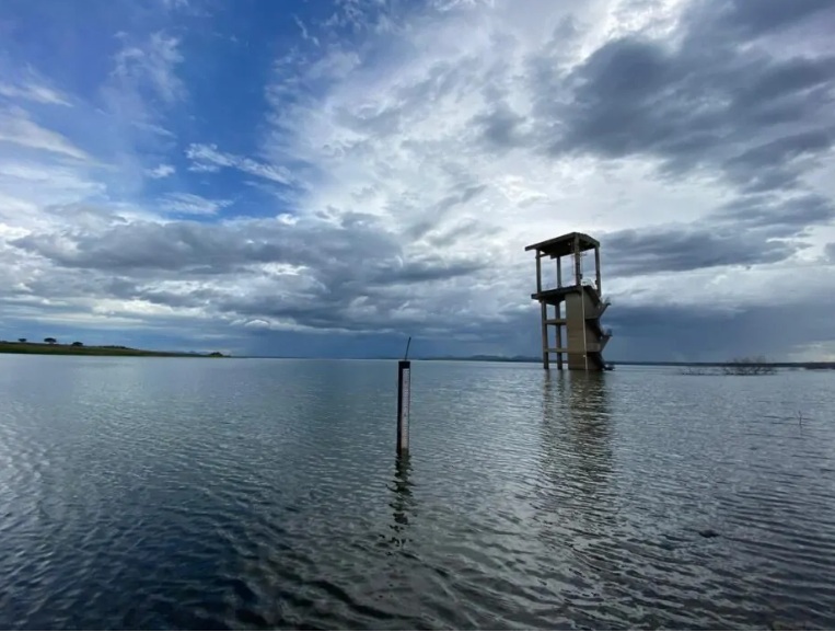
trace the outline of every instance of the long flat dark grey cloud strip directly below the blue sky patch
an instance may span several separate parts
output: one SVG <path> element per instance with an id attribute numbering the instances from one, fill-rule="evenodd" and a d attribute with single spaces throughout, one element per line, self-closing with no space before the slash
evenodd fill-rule
<path id="1" fill-rule="evenodd" d="M 309 266 L 336 280 L 394 284 L 442 280 L 479 267 L 478 261 L 439 255 L 408 260 L 395 235 L 378 226 L 374 218 L 359 214 L 345 216 L 339 226 L 135 222 L 103 232 L 35 233 L 12 244 L 63 267 L 140 277 L 160 271 L 222 275 L 253 264 L 281 263 Z"/>

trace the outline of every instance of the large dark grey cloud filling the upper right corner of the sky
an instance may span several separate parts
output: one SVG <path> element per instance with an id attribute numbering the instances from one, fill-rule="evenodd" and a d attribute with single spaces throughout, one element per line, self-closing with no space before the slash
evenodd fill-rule
<path id="1" fill-rule="evenodd" d="M 668 176 L 719 170 L 740 193 L 796 188 L 835 138 L 835 57 L 779 56 L 768 36 L 835 27 L 833 2 L 697 2 L 681 45 L 611 41 L 570 73 L 540 73 L 550 154 L 661 159 Z M 766 41 L 755 41 L 758 37 Z"/>

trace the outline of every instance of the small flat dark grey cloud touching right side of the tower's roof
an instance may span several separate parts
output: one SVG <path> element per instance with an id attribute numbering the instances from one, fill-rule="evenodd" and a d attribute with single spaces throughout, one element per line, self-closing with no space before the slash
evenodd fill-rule
<path id="1" fill-rule="evenodd" d="M 603 235 L 604 265 L 617 276 L 782 261 L 798 246 L 728 228 L 660 227 Z"/>

